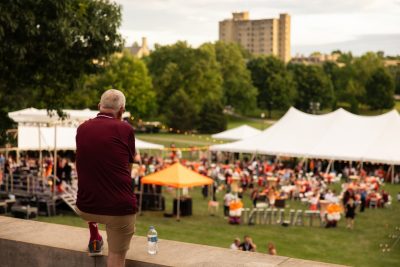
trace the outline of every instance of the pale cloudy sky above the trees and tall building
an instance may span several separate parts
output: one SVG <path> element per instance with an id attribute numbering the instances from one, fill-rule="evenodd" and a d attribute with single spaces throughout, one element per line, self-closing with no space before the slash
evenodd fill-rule
<path id="1" fill-rule="evenodd" d="M 232 12 L 251 19 L 291 15 L 292 56 L 314 51 L 384 51 L 400 55 L 400 0 L 115 0 L 126 45 L 187 41 L 194 47 L 218 40 L 218 22 Z"/>

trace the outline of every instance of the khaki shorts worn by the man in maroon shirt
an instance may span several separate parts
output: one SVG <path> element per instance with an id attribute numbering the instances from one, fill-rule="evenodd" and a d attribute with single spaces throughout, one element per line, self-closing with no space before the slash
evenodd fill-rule
<path id="1" fill-rule="evenodd" d="M 136 215 L 108 216 L 91 214 L 80 211 L 76 213 L 88 222 L 97 222 L 106 225 L 108 250 L 114 253 L 126 252 L 129 250 L 131 239 L 135 233 Z"/>

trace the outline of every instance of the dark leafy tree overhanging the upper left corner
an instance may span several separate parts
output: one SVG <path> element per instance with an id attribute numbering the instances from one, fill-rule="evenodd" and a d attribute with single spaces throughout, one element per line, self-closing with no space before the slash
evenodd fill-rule
<path id="1" fill-rule="evenodd" d="M 122 48 L 120 22 L 120 7 L 106 0 L 1 2 L 0 121 L 28 106 L 61 109 Z"/>

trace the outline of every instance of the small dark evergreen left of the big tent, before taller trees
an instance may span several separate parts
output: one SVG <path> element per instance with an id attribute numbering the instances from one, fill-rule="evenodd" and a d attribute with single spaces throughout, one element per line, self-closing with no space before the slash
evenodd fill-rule
<path id="1" fill-rule="evenodd" d="M 198 130 L 202 133 L 222 132 L 226 129 L 227 120 L 221 102 L 206 101 L 199 114 Z"/>

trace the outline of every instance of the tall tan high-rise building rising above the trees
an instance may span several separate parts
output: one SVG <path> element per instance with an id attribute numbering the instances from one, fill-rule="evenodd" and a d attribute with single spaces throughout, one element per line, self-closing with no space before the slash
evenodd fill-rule
<path id="1" fill-rule="evenodd" d="M 275 55 L 290 60 L 290 16 L 250 20 L 249 12 L 232 13 L 219 22 L 219 40 L 241 44 L 255 55 Z"/>

